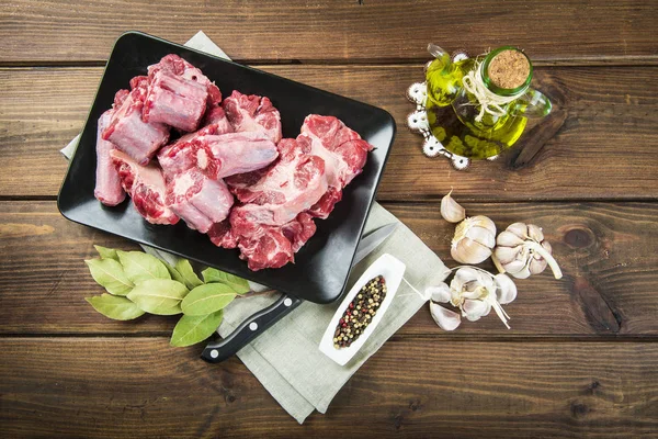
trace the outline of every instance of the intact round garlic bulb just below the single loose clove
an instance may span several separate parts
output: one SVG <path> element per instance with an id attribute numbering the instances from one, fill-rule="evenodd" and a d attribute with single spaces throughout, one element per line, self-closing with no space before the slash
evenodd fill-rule
<path id="1" fill-rule="evenodd" d="M 496 224 L 486 216 L 474 216 L 457 224 L 450 254 L 462 263 L 480 263 L 495 246 Z"/>

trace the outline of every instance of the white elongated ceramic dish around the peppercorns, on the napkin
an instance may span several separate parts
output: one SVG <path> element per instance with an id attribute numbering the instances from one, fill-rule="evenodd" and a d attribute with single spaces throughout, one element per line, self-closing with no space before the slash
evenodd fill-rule
<path id="1" fill-rule="evenodd" d="M 371 334 L 373 334 L 382 320 L 382 317 L 390 306 L 393 299 L 395 297 L 395 293 L 402 281 L 402 275 L 405 274 L 406 266 L 400 262 L 395 257 L 384 254 L 376 261 L 374 261 L 359 278 L 356 283 L 352 286 L 350 292 L 345 295 L 342 303 L 333 314 L 327 330 L 325 331 L 325 336 L 320 341 L 320 351 L 325 353 L 327 357 L 339 363 L 340 365 L 345 365 L 348 361 L 354 357 L 354 354 L 361 349 L 361 347 L 368 339 Z M 375 317 L 372 319 L 370 325 L 366 326 L 365 330 L 348 348 L 334 348 L 333 347 L 333 335 L 336 333 L 336 327 L 338 326 L 338 320 L 342 317 L 345 308 L 349 306 L 350 302 L 354 299 L 354 296 L 359 293 L 361 288 L 365 285 L 370 280 L 376 278 L 377 275 L 384 277 L 386 280 L 386 297 L 379 305 L 379 309 L 375 314 Z"/>

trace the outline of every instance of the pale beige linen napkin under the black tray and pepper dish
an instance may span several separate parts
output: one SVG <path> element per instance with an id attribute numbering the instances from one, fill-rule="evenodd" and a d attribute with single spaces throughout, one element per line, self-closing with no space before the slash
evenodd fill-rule
<path id="1" fill-rule="evenodd" d="M 185 45 L 229 59 L 201 31 Z M 230 90 L 223 90 L 223 92 L 228 93 Z M 70 157 L 78 140 L 79 136 L 61 150 L 63 154 Z M 352 285 L 361 273 L 385 252 L 395 256 L 407 266 L 405 279 L 417 290 L 423 291 L 427 286 L 435 285 L 447 277 L 447 269 L 441 259 L 408 227 L 377 203 L 374 203 L 371 210 L 364 234 L 394 222 L 398 223 L 396 230 L 354 268 L 349 285 Z M 145 250 L 170 262 L 175 258 L 152 248 L 145 247 Z M 222 336 L 227 336 L 245 318 L 275 300 L 274 296 L 256 296 L 234 301 L 226 308 L 224 322 L 217 331 Z M 402 281 L 376 330 L 344 367 L 338 365 L 318 349 L 339 303 L 328 305 L 302 303 L 241 349 L 238 357 L 281 406 L 302 424 L 314 409 L 326 413 L 329 403 L 350 376 L 423 304 L 424 300 Z M 217 365 L 220 367 L 222 364 Z"/>

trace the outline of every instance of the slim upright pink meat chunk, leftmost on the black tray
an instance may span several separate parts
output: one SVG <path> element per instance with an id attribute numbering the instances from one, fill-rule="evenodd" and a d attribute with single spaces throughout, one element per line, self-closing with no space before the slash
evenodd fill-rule
<path id="1" fill-rule="evenodd" d="M 126 199 L 126 193 L 121 187 L 121 179 L 110 157 L 110 151 L 114 149 L 111 142 L 104 140 L 101 133 L 110 124 L 112 110 L 107 110 L 99 117 L 97 136 L 97 184 L 93 195 L 103 204 L 109 206 L 117 205 Z"/>

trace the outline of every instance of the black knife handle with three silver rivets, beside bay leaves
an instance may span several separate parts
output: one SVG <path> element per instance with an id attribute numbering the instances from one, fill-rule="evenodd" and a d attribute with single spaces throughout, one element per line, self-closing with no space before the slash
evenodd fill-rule
<path id="1" fill-rule="evenodd" d="M 209 342 L 201 353 L 201 358 L 211 363 L 218 363 L 232 357 L 302 302 L 304 301 L 300 299 L 283 294 L 272 305 L 246 318 L 226 338 Z"/>

